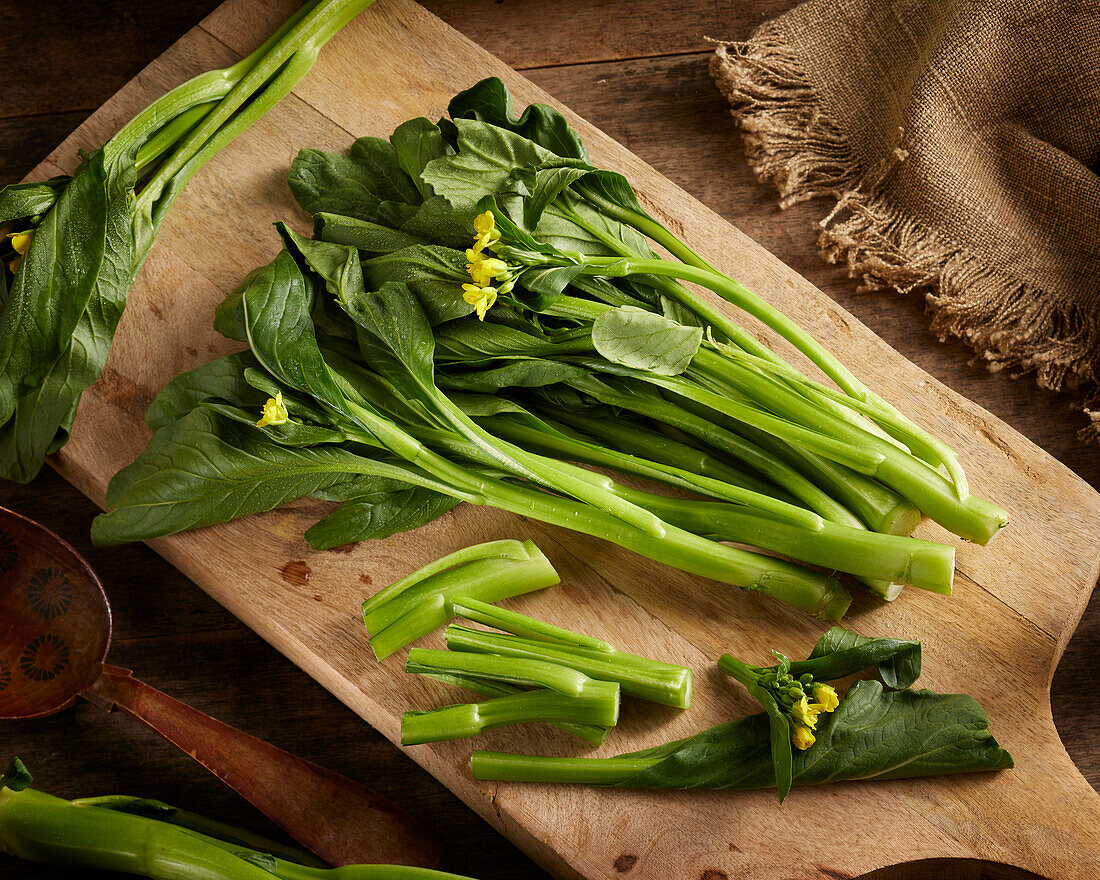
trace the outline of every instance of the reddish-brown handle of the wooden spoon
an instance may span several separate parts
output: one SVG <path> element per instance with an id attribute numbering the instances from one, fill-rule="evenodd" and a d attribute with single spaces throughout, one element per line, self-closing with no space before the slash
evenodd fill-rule
<path id="1" fill-rule="evenodd" d="M 331 865 L 439 864 L 439 842 L 381 794 L 211 718 L 130 670 L 105 664 L 81 695 L 107 711 L 118 706 L 178 746 Z"/>

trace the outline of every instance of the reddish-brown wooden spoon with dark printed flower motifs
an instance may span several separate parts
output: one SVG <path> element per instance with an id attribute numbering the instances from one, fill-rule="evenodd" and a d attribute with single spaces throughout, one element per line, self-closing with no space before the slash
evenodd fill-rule
<path id="1" fill-rule="evenodd" d="M 331 865 L 439 864 L 439 842 L 396 804 L 106 664 L 110 645 L 96 572 L 57 535 L 0 507 L 0 719 L 52 715 L 77 696 L 117 706 Z"/>

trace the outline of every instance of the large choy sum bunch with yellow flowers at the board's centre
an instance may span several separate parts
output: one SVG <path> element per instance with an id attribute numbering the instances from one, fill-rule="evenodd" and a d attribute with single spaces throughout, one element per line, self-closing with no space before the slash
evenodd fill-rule
<path id="1" fill-rule="evenodd" d="M 222 304 L 215 326 L 249 350 L 157 397 L 97 541 L 314 496 L 343 502 L 306 534 L 324 548 L 465 501 L 834 619 L 850 596 L 821 569 L 884 598 L 950 592 L 953 549 L 908 537 L 921 513 L 982 543 L 1007 515 L 949 449 L 647 215 L 557 111 L 517 118 L 490 79 L 450 112 L 298 155 L 315 237 L 280 227 L 284 251 Z"/>

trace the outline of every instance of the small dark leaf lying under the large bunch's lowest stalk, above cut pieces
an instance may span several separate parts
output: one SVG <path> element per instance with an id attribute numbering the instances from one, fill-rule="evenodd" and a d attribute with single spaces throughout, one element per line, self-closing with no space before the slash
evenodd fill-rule
<path id="1" fill-rule="evenodd" d="M 306 530 L 315 550 L 355 541 L 381 540 L 431 522 L 459 504 L 458 498 L 419 486 L 345 502 Z"/>

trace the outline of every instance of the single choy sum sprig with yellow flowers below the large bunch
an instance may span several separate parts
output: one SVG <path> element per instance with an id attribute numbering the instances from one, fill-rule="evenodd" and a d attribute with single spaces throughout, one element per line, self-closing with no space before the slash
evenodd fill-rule
<path id="1" fill-rule="evenodd" d="M 475 751 L 474 779 L 625 789 L 774 787 L 782 801 L 792 785 L 1013 766 L 974 697 L 910 686 L 921 674 L 917 641 L 866 638 L 834 627 L 805 660 L 779 657 L 780 662 L 768 668 L 729 654 L 718 661 L 765 712 L 614 758 Z M 877 668 L 881 681 L 858 681 L 843 697 L 823 683 L 870 668 Z M 813 739 L 800 730 L 810 730 Z M 798 746 L 793 755 L 792 732 Z"/>

